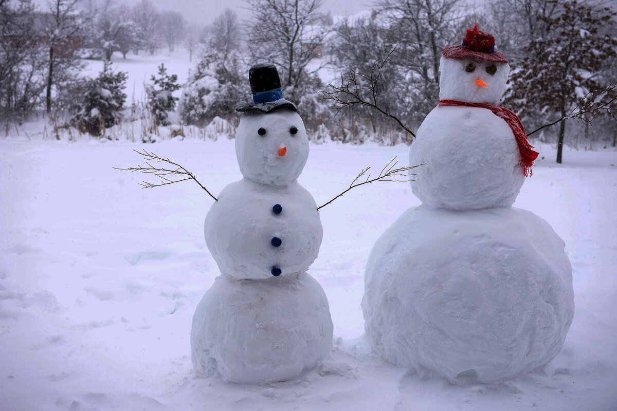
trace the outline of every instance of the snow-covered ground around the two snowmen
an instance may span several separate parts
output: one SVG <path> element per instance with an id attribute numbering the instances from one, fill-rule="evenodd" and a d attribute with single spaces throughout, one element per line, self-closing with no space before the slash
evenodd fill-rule
<path id="1" fill-rule="evenodd" d="M 218 269 L 203 237 L 212 200 L 193 182 L 143 190 L 112 169 L 153 150 L 214 193 L 241 177 L 234 142 L 151 145 L 0 139 L 0 409 L 2 410 L 615 410 L 617 152 L 540 147 L 515 206 L 546 219 L 574 268 L 576 314 L 544 370 L 499 385 L 453 386 L 371 354 L 363 340 L 363 271 L 376 239 L 418 205 L 406 183 L 352 190 L 320 211 L 324 240 L 310 274 L 328 296 L 331 361 L 264 386 L 196 378 L 191 317 Z M 366 165 L 408 148 L 312 145 L 300 176 L 323 204 Z M 421 241 L 418 238 L 418 241 Z"/>

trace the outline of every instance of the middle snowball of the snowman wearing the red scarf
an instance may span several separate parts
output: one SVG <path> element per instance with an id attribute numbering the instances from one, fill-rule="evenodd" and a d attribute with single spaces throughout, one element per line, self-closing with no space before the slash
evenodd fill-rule
<path id="1" fill-rule="evenodd" d="M 413 193 L 424 205 L 466 210 L 511 206 L 524 182 L 510 126 L 491 110 L 436 107 L 409 150 Z"/>

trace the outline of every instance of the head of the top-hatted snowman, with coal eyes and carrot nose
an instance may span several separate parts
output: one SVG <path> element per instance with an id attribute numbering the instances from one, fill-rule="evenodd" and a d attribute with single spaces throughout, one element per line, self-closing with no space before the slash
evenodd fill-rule
<path id="1" fill-rule="evenodd" d="M 296 180 L 309 157 L 302 118 L 289 108 L 242 114 L 236 156 L 242 176 L 253 181 L 285 185 Z"/>

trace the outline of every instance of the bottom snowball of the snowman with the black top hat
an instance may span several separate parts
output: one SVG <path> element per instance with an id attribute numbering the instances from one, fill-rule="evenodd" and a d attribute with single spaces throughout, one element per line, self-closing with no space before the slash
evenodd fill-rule
<path id="1" fill-rule="evenodd" d="M 234 383 L 294 378 L 328 356 L 333 325 L 317 281 L 218 277 L 197 306 L 191 330 L 195 373 Z"/>

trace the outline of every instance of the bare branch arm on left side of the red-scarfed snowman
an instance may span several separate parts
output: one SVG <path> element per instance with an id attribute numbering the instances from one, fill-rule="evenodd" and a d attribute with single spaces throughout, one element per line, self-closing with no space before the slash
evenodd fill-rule
<path id="1" fill-rule="evenodd" d="M 387 63 L 387 60 L 390 58 L 392 53 L 394 53 L 396 47 L 397 46 L 394 46 L 392 51 L 389 52 L 389 54 L 386 56 L 383 62 L 381 62 L 381 64 L 377 63 L 377 61 L 373 62 L 373 68 L 371 68 L 370 75 L 363 75 L 349 67 L 348 77 L 342 75 L 341 73 L 341 86 L 333 86 L 332 84 L 328 84 L 328 86 L 330 86 L 333 91 L 322 90 L 321 94 L 323 94 L 323 97 L 320 100 L 331 100 L 332 102 L 334 102 L 335 105 L 333 108 L 337 110 L 337 112 L 340 112 L 343 108 L 354 104 L 360 104 L 365 105 L 366 107 L 375 108 L 375 110 L 377 110 L 378 112 L 388 116 L 389 118 L 392 118 L 392 120 L 399 123 L 399 126 L 402 129 L 407 131 L 409 134 L 412 135 L 413 138 L 415 138 L 416 135 L 413 133 L 413 131 L 407 128 L 407 126 L 405 126 L 405 124 L 403 124 L 403 122 L 400 121 L 397 116 L 392 115 L 392 113 L 389 113 L 383 108 L 379 107 L 379 104 L 377 103 L 377 84 L 379 82 L 379 77 L 381 76 L 381 70 L 383 70 L 384 66 Z M 366 81 L 368 81 L 369 84 L 367 86 L 361 86 L 360 84 L 358 84 L 358 77 L 365 79 Z M 362 96 L 360 96 L 360 91 L 363 90 L 370 92 L 370 100 L 365 100 Z M 344 99 L 344 97 L 347 97 L 347 99 L 349 100 Z"/>

